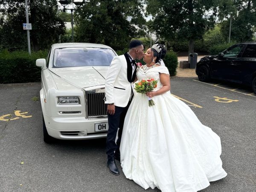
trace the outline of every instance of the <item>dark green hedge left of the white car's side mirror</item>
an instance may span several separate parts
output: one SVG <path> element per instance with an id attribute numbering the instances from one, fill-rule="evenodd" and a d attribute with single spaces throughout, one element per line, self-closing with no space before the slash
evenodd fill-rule
<path id="1" fill-rule="evenodd" d="M 0 83 L 26 83 L 39 82 L 41 79 L 41 68 L 35 65 L 38 58 L 46 58 L 47 51 L 0 52 Z"/>

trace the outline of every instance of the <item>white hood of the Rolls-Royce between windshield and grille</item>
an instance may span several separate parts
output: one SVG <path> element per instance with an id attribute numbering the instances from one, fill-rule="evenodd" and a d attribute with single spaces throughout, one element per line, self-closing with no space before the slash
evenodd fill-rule
<path id="1" fill-rule="evenodd" d="M 105 84 L 105 78 L 109 67 L 65 67 L 52 68 L 50 71 L 58 78 L 73 84 L 76 87 L 86 88 Z M 58 86 L 58 88 L 61 88 Z"/>

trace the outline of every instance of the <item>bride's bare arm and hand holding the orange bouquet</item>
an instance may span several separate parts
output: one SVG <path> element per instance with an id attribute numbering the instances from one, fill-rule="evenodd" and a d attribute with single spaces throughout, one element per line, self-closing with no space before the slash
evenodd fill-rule
<path id="1" fill-rule="evenodd" d="M 151 98 L 157 95 L 161 95 L 171 89 L 170 76 L 168 74 L 160 73 L 160 82 L 163 85 L 163 87 L 161 87 L 160 90 L 157 90 L 157 91 L 147 92 L 146 95 L 148 97 Z"/>

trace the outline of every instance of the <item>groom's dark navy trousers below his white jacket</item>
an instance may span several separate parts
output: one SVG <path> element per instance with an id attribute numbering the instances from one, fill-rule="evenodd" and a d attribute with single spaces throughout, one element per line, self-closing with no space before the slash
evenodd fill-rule
<path id="1" fill-rule="evenodd" d="M 114 157 L 115 151 L 119 151 L 122 129 L 124 126 L 125 115 L 128 111 L 128 108 L 131 104 L 131 101 L 128 102 L 128 105 L 124 108 L 115 106 L 115 113 L 113 115 L 108 114 L 108 135 L 107 135 L 107 155 L 108 159 Z M 118 131 L 118 139 L 116 141 L 116 133 Z"/>

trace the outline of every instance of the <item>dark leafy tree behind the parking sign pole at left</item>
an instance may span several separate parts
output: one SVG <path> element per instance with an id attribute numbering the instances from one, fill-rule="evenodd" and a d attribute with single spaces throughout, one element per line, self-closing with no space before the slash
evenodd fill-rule
<path id="1" fill-rule="evenodd" d="M 25 0 L 1 0 L 0 23 L 2 30 L 2 46 L 24 49 L 27 47 L 26 31 L 22 23 L 26 23 Z M 49 48 L 58 42 L 58 36 L 64 34 L 65 25 L 58 16 L 57 0 L 29 0 L 30 41 L 34 51 Z"/>

